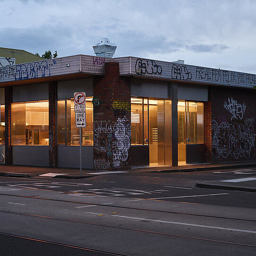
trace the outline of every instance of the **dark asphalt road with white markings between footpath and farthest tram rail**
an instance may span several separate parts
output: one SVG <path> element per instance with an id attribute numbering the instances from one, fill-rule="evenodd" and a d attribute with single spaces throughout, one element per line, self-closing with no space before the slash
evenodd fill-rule
<path id="1" fill-rule="evenodd" d="M 242 171 L 240 171 L 242 172 Z M 256 173 L 256 170 L 255 170 Z M 255 175 L 255 174 L 254 174 Z M 87 179 L 0 177 L 0 186 L 256 208 L 256 193 L 197 188 L 196 182 L 250 177 L 234 170 L 101 174 Z M 2 189 L 0 188 L 0 191 Z M 254 200 L 252 200 L 254 199 Z"/>

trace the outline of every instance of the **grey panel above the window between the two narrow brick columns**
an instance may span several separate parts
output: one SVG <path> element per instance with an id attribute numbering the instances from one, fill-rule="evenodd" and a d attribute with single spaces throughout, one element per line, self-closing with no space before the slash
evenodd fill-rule
<path id="1" fill-rule="evenodd" d="M 14 86 L 12 102 L 44 101 L 49 99 L 48 83 Z"/>

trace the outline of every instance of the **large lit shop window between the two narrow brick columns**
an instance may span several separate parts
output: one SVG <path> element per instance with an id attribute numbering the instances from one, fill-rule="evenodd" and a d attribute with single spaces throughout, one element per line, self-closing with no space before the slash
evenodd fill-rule
<path id="1" fill-rule="evenodd" d="M 49 145 L 48 101 L 11 104 L 12 145 Z"/>

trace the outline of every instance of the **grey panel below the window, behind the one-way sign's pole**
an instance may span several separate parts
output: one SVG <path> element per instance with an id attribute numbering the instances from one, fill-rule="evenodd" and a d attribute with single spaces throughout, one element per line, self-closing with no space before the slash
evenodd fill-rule
<path id="1" fill-rule="evenodd" d="M 57 146 L 57 166 L 79 168 L 79 146 Z M 82 146 L 82 168 L 93 169 L 93 146 Z"/>

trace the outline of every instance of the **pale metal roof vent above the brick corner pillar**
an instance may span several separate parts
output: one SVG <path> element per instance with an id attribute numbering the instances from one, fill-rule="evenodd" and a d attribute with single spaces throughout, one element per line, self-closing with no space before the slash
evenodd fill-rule
<path id="1" fill-rule="evenodd" d="M 94 53 L 99 57 L 112 58 L 116 51 L 116 44 L 110 43 L 109 38 L 101 38 L 96 46 L 92 46 Z"/>

